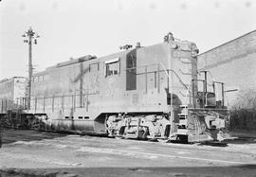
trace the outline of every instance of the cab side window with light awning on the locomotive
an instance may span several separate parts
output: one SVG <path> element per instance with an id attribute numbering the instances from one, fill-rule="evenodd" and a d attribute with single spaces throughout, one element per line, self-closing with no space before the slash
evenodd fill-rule
<path id="1" fill-rule="evenodd" d="M 105 77 L 119 75 L 120 62 L 119 59 L 114 59 L 105 62 Z"/>

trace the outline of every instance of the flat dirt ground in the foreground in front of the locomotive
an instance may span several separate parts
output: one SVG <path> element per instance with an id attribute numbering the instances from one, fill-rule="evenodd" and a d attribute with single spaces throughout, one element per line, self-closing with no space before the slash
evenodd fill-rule
<path id="1" fill-rule="evenodd" d="M 0 176 L 256 176 L 256 134 L 227 147 L 5 130 Z"/>

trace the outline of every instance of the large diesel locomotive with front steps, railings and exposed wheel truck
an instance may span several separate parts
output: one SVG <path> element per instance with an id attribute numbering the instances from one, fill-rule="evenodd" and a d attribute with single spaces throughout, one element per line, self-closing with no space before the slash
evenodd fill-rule
<path id="1" fill-rule="evenodd" d="M 34 74 L 27 115 L 44 129 L 189 142 L 218 139 L 229 114 L 224 96 L 216 100 L 216 90 L 210 92 L 207 80 L 197 78 L 194 43 L 174 40 L 170 33 L 161 44 L 121 48 Z"/>

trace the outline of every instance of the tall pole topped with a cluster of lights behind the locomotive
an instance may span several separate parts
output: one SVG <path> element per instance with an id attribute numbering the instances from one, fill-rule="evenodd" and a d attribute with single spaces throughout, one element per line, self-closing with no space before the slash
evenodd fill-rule
<path id="1" fill-rule="evenodd" d="M 28 80 L 27 80 L 27 109 L 30 109 L 30 99 L 31 99 L 31 81 L 33 75 L 33 65 L 32 65 L 32 44 L 37 44 L 37 38 L 40 36 L 36 34 L 31 27 L 25 32 L 22 37 L 26 38 L 24 43 L 28 44 Z"/>

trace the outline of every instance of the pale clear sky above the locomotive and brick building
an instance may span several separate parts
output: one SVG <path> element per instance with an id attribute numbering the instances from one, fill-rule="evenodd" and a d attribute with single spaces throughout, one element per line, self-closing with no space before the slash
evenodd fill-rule
<path id="1" fill-rule="evenodd" d="M 249 0 L 1 0 L 0 80 L 27 76 L 28 45 L 40 35 L 34 72 L 70 57 L 119 52 L 123 44 L 192 41 L 200 52 L 256 29 L 256 1 Z"/>

